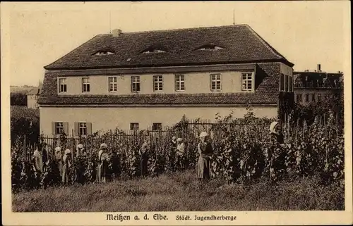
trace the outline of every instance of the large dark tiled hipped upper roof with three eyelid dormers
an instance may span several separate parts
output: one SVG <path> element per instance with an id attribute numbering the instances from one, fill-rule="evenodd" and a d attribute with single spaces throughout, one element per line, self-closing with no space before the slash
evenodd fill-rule
<path id="1" fill-rule="evenodd" d="M 225 49 L 196 50 L 208 44 L 222 46 Z M 163 49 L 166 52 L 142 54 L 145 49 L 151 47 Z M 95 55 L 97 51 L 105 49 L 112 50 L 115 54 Z M 281 61 L 287 65 L 293 65 L 256 34 L 249 25 L 230 25 L 150 32 L 123 32 L 119 37 L 113 37 L 112 34 L 98 34 L 44 68 L 47 70 L 129 68 L 264 61 Z"/>

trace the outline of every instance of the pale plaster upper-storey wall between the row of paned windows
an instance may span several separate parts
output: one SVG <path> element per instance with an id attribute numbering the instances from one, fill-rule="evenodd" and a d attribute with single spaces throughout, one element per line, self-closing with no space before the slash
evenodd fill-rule
<path id="1" fill-rule="evenodd" d="M 250 72 L 244 70 L 244 72 Z M 221 72 L 208 72 L 208 73 L 181 73 L 184 75 L 185 91 L 183 93 L 196 94 L 196 93 L 211 93 L 210 89 L 210 74 L 221 74 L 222 92 L 242 92 L 241 91 L 241 73 L 239 71 L 221 71 Z M 179 73 L 178 73 L 179 74 Z M 163 90 L 153 91 L 153 75 L 162 75 L 163 77 Z M 180 91 L 175 91 L 175 76 L 174 73 L 164 74 L 139 74 L 140 76 L 140 94 L 174 94 Z M 117 92 L 109 92 L 109 79 L 108 77 L 117 77 Z M 65 95 L 83 94 L 82 92 L 82 78 L 90 77 L 90 92 L 85 94 L 135 94 L 131 92 L 131 76 L 137 75 L 89 75 L 89 76 L 59 76 L 66 77 L 67 92 L 61 93 Z"/>

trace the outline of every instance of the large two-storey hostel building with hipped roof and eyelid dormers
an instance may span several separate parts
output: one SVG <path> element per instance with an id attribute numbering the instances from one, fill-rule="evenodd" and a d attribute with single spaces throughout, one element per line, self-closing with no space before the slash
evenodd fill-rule
<path id="1" fill-rule="evenodd" d="M 293 63 L 249 25 L 99 34 L 45 66 L 44 134 L 152 129 L 186 118 L 215 120 L 250 104 L 277 117 L 293 92 Z"/>

